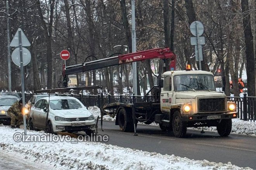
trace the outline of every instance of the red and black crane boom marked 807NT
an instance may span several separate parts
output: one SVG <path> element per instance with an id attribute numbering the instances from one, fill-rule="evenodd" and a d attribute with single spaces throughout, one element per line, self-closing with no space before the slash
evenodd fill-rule
<path id="1" fill-rule="evenodd" d="M 170 48 L 156 48 L 145 51 L 138 51 L 135 53 L 121 54 L 119 56 L 113 56 L 109 58 L 99 59 L 82 63 L 79 65 L 62 67 L 62 75 L 64 77 L 64 86 L 67 86 L 67 76 L 74 73 L 80 73 L 85 71 L 96 70 L 99 68 L 105 68 L 109 66 L 122 65 L 127 63 L 133 63 L 137 61 L 144 61 L 145 59 L 160 58 L 166 63 L 166 59 L 170 59 L 170 69 L 175 70 L 176 56 Z M 165 66 L 165 65 L 164 65 Z"/>

